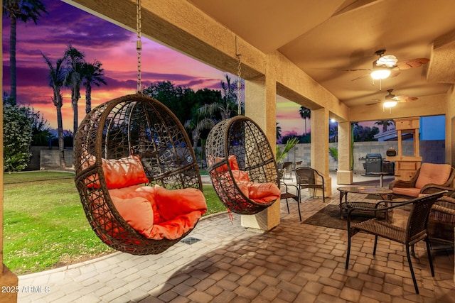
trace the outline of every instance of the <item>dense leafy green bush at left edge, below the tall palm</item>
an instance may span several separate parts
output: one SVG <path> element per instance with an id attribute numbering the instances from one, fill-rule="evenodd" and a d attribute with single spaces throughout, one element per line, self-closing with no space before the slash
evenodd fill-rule
<path id="1" fill-rule="evenodd" d="M 27 114 L 28 108 L 10 105 L 7 102 L 3 104 L 3 151 L 6 172 L 23 170 L 30 160 L 32 133 L 31 121 Z"/>

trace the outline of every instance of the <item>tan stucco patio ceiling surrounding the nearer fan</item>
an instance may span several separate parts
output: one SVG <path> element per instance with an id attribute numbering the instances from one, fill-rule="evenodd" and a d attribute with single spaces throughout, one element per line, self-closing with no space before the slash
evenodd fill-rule
<path id="1" fill-rule="evenodd" d="M 454 0 L 189 0 L 264 53 L 279 51 L 347 106 L 444 94 L 455 83 Z M 429 58 L 381 82 L 360 77 L 378 57 Z M 356 79 L 360 77 L 360 79 Z M 354 80 L 355 79 L 355 80 Z"/>

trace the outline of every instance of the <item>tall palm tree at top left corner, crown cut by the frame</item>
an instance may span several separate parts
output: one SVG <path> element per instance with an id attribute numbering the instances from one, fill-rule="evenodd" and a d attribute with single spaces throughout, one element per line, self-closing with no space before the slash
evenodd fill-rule
<path id="1" fill-rule="evenodd" d="M 47 13 L 40 0 L 4 0 L 3 13 L 11 20 L 9 30 L 9 77 L 11 82 L 11 104 L 16 105 L 16 30 L 17 19 L 26 23 L 32 20 L 35 24 L 41 12 Z"/>

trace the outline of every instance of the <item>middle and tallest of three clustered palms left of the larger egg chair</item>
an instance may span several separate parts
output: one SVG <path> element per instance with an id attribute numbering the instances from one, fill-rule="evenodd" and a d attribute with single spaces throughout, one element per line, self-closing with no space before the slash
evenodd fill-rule
<path id="1" fill-rule="evenodd" d="M 80 99 L 80 85 L 82 84 L 82 67 L 84 66 L 84 53 L 68 45 L 65 51 L 65 62 L 68 73 L 65 77 L 65 86 L 71 89 L 71 107 L 73 107 L 73 133 L 77 131 L 77 101 Z"/>

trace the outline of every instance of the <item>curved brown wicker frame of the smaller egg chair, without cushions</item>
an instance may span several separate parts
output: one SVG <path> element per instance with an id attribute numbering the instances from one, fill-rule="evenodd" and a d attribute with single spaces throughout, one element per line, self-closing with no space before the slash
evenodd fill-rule
<path id="1" fill-rule="evenodd" d="M 218 123 L 210 131 L 205 145 L 213 187 L 225 206 L 237 214 L 256 214 L 272 205 L 257 203 L 242 193 L 235 183 L 228 157 L 235 155 L 240 170 L 248 172 L 251 182 L 273 182 L 279 186 L 277 162 L 261 128 L 245 116 Z M 222 166 L 228 167 L 228 174 Z"/>

